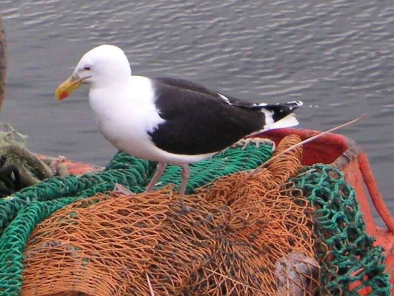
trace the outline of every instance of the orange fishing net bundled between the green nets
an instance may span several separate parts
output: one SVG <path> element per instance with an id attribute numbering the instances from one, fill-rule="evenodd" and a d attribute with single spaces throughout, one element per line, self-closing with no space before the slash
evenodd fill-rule
<path id="1" fill-rule="evenodd" d="M 286 137 L 276 154 L 299 141 Z M 192 195 L 168 185 L 65 206 L 30 235 L 22 295 L 313 295 L 310 209 L 286 183 L 301 154 Z"/>

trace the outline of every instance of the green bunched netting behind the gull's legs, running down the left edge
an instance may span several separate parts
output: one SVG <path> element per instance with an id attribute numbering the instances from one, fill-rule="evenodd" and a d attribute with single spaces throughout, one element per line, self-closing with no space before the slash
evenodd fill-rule
<path id="1" fill-rule="evenodd" d="M 258 167 L 272 154 L 271 145 L 229 148 L 212 158 L 190 165 L 187 192 L 214 179 Z M 22 286 L 23 251 L 35 225 L 54 211 L 80 198 L 114 189 L 119 183 L 142 192 L 153 176 L 156 164 L 119 152 L 103 172 L 80 177 L 48 178 L 10 198 L 0 199 L 0 296 L 17 296 Z M 161 186 L 180 184 L 178 166 L 168 165 Z"/>

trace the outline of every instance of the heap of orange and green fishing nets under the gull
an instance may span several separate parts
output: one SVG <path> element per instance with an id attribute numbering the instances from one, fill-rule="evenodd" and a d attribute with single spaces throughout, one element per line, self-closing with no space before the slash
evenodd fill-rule
<path id="1" fill-rule="evenodd" d="M 277 151 L 299 139 L 283 141 Z M 0 200 L 0 295 L 391 295 L 342 173 L 300 169 L 300 149 L 253 171 L 271 149 L 234 147 L 196 164 L 191 195 L 174 190 L 172 166 L 158 191 L 98 194 L 114 182 L 140 193 L 154 173 L 119 153 L 101 173 Z"/>

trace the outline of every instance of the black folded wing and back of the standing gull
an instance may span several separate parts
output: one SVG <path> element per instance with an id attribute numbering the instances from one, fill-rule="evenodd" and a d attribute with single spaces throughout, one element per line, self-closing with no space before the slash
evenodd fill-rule
<path id="1" fill-rule="evenodd" d="M 220 151 L 264 126 L 260 110 L 233 106 L 202 85 L 176 78 L 152 81 L 155 105 L 165 122 L 150 136 L 165 151 L 188 155 Z"/>

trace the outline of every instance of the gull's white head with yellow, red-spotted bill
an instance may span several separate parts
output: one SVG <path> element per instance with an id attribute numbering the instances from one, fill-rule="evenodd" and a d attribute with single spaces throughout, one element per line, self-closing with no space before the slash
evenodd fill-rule
<path id="1" fill-rule="evenodd" d="M 100 45 L 83 55 L 72 75 L 56 89 L 55 96 L 61 101 L 82 83 L 105 87 L 130 75 L 129 60 L 123 50 L 114 45 Z"/>

